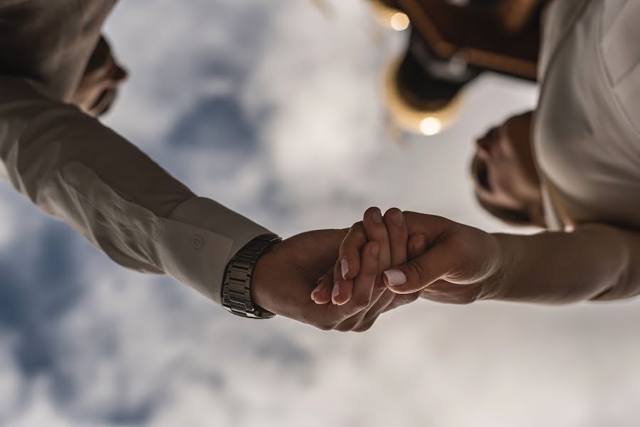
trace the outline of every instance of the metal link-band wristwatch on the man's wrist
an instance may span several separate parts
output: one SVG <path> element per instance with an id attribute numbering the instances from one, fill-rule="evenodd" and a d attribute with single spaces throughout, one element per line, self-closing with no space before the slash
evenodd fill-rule
<path id="1" fill-rule="evenodd" d="M 234 315 L 250 319 L 268 319 L 275 314 L 251 299 L 251 276 L 258 258 L 274 244 L 282 241 L 275 234 L 263 234 L 247 243 L 226 266 L 222 285 L 222 306 Z"/>

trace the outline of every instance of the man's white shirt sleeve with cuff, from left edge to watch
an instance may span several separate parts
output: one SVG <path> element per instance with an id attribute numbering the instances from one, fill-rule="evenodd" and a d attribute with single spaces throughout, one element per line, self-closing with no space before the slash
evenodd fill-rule
<path id="1" fill-rule="evenodd" d="M 221 303 L 231 257 L 266 228 L 197 197 L 126 139 L 37 83 L 0 77 L 0 174 L 116 263 Z"/>

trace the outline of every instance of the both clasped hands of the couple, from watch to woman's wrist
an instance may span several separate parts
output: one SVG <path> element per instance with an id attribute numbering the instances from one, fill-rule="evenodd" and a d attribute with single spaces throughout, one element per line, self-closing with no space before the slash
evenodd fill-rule
<path id="1" fill-rule="evenodd" d="M 439 216 L 377 208 L 348 230 L 310 231 L 256 264 L 253 299 L 322 330 L 368 330 L 384 312 L 425 297 L 491 297 L 502 254 L 489 233 Z"/>

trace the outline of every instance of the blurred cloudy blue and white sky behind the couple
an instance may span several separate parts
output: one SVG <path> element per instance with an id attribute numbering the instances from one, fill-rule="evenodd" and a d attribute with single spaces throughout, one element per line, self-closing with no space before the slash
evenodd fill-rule
<path id="1" fill-rule="evenodd" d="M 130 70 L 108 125 L 282 236 L 369 206 L 512 231 L 468 164 L 537 88 L 486 73 L 455 126 L 400 132 L 381 88 L 408 33 L 365 1 L 122 1 L 107 36 Z M 637 426 L 638 325 L 640 301 L 419 301 L 364 334 L 252 322 L 0 186 L 1 426 Z"/>

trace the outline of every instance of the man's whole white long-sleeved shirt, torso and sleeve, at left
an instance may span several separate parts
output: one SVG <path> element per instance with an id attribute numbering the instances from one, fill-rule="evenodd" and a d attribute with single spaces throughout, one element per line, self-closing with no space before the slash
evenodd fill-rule
<path id="1" fill-rule="evenodd" d="M 268 230 L 196 197 L 65 103 L 113 4 L 0 0 L 0 73 L 15 75 L 0 75 L 0 176 L 115 262 L 167 273 L 220 303 L 226 264 Z"/>

